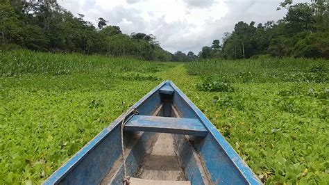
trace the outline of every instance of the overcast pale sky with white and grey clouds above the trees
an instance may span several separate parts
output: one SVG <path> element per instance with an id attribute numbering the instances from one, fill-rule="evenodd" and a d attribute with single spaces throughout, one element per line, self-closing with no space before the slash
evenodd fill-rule
<path id="1" fill-rule="evenodd" d="M 265 23 L 281 19 L 283 0 L 58 0 L 74 15 L 97 25 L 103 17 L 121 31 L 153 34 L 163 49 L 198 54 L 212 40 L 233 31 L 239 21 Z"/>

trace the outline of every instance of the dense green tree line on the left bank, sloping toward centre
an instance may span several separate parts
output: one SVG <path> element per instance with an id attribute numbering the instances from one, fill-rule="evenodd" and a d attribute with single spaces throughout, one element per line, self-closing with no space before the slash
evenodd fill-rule
<path id="1" fill-rule="evenodd" d="M 35 51 L 77 52 L 128 56 L 149 61 L 171 61 L 154 35 L 126 35 L 99 17 L 97 26 L 75 17 L 54 0 L 0 0 L 0 45 Z"/>

